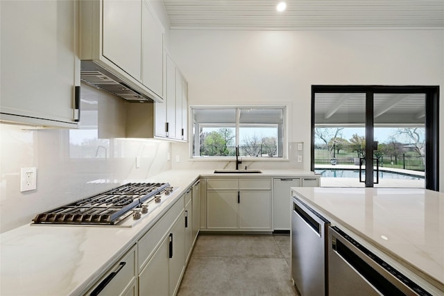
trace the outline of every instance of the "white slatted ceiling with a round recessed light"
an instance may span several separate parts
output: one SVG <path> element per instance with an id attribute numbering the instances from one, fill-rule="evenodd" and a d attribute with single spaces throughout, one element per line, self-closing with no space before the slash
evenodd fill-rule
<path id="1" fill-rule="evenodd" d="M 444 28 L 444 0 L 164 0 L 171 29 Z"/>

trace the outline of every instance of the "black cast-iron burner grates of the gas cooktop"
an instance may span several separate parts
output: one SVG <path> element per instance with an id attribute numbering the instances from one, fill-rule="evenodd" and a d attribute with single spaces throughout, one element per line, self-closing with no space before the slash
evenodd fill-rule
<path id="1" fill-rule="evenodd" d="M 37 214 L 35 224 L 94 224 L 114 225 L 128 212 L 154 198 L 169 183 L 130 183 L 90 198 Z"/>

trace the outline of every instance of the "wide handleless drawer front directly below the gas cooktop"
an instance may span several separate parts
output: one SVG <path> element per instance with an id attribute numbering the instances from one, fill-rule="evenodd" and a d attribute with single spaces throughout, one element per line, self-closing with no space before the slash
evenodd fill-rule
<path id="1" fill-rule="evenodd" d="M 162 238 L 169 231 L 174 220 L 176 220 L 183 210 L 184 203 L 182 195 L 182 197 L 173 204 L 173 207 L 167 211 L 167 214 L 164 214 L 164 216 L 162 216 L 162 218 L 160 218 L 160 220 L 158 220 L 157 223 L 155 223 L 155 225 L 139 239 L 139 241 L 137 241 L 137 263 L 139 271 L 144 268 L 146 263 L 148 263 L 148 260 L 151 258 L 151 255 L 153 255 L 157 245 L 161 243 Z"/>

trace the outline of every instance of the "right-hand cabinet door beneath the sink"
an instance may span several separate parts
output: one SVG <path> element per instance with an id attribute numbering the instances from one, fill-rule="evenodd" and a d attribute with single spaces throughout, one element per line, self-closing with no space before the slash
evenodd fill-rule
<path id="1" fill-rule="evenodd" d="M 239 228 L 271 229 L 271 191 L 241 191 Z"/>

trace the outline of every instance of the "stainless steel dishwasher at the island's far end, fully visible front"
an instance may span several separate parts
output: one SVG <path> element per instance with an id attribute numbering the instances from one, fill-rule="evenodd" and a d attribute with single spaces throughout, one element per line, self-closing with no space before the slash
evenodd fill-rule
<path id="1" fill-rule="evenodd" d="M 327 227 L 330 222 L 293 195 L 291 275 L 302 296 L 327 293 Z"/>

